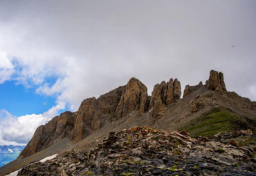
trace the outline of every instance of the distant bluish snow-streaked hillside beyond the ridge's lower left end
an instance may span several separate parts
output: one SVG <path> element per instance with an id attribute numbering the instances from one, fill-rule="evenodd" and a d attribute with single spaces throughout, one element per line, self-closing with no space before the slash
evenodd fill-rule
<path id="1" fill-rule="evenodd" d="M 0 167 L 17 159 L 25 146 L 0 146 Z"/>

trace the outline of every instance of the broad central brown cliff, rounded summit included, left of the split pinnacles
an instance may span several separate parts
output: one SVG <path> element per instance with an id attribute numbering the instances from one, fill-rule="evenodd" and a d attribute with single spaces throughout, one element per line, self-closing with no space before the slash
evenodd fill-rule
<path id="1" fill-rule="evenodd" d="M 107 119 L 120 119 L 125 115 L 139 111 L 143 115 L 147 109 L 147 87 L 138 79 L 131 78 L 126 86 L 100 96 L 85 99 L 77 111 L 71 139 L 80 141 L 93 131 L 104 126 Z"/>

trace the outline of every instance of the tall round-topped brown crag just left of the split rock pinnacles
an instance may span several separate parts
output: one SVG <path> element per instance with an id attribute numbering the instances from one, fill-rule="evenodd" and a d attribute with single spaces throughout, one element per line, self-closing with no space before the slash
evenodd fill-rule
<path id="1" fill-rule="evenodd" d="M 118 119 L 139 110 L 139 114 L 143 115 L 147 109 L 147 87 L 136 78 L 131 78 L 116 108 L 116 117 Z"/>

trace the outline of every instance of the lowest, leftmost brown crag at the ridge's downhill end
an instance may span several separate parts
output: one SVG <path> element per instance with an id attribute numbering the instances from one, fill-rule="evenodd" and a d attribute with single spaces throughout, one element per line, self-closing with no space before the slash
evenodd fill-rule
<path id="1" fill-rule="evenodd" d="M 67 137 L 73 129 L 73 121 L 76 113 L 66 111 L 48 121 L 44 126 L 39 126 L 28 142 L 19 158 L 33 155 L 48 146 L 51 146 L 58 139 Z"/>

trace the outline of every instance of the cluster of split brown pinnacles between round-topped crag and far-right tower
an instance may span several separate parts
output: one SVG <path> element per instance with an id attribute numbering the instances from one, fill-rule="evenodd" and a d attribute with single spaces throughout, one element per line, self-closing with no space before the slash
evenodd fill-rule
<path id="1" fill-rule="evenodd" d="M 162 81 L 156 84 L 152 92 L 149 108 L 153 108 L 153 116 L 162 115 L 166 106 L 174 103 L 181 97 L 181 83 L 178 79 L 171 78 L 169 82 Z"/>

